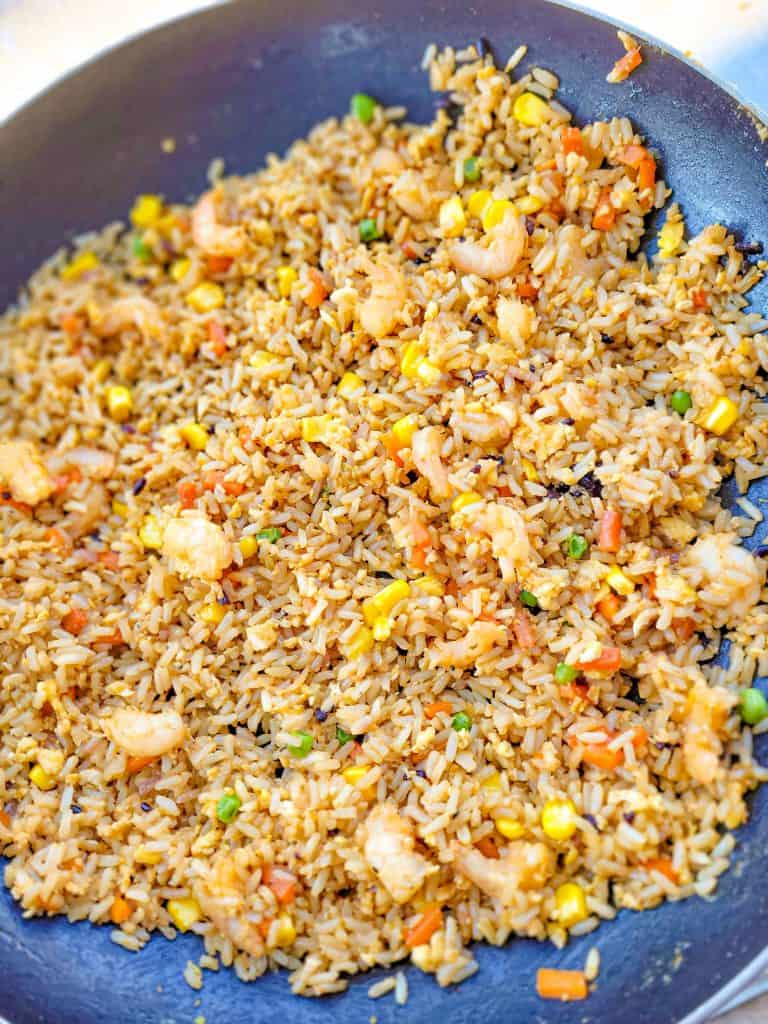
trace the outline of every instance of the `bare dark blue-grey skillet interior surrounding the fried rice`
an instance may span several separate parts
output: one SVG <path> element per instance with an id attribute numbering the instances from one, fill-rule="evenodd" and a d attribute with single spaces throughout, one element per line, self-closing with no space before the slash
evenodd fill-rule
<path id="1" fill-rule="evenodd" d="M 716 83 L 655 46 L 623 85 L 605 75 L 623 49 L 615 28 L 569 8 L 529 0 L 472 7 L 387 0 L 349 14 L 345 0 L 244 2 L 176 22 L 98 58 L 0 127 L 0 308 L 29 273 L 73 234 L 124 217 L 141 191 L 187 200 L 205 187 L 214 156 L 229 171 L 256 169 L 316 121 L 371 92 L 430 117 L 433 96 L 419 69 L 429 42 L 462 45 L 489 37 L 503 62 L 516 45 L 561 79 L 559 98 L 578 121 L 628 115 L 660 154 L 691 233 L 720 220 L 745 239 L 768 241 L 768 146 L 750 116 Z M 173 155 L 161 142 L 173 136 Z M 765 307 L 768 289 L 753 301 Z M 734 492 L 726 488 L 732 501 Z M 768 500 L 768 484 L 750 492 Z M 759 543 L 760 527 L 749 547 Z M 762 681 L 758 683 L 762 685 Z M 768 680 L 766 680 L 768 687 Z M 763 759 L 768 741 L 757 744 Z M 612 924 L 557 951 L 513 941 L 479 950 L 480 971 L 456 990 L 407 969 L 406 1011 L 368 999 L 378 972 L 349 991 L 318 1000 L 292 996 L 285 975 L 244 985 L 228 971 L 207 974 L 201 993 L 181 977 L 200 940 L 156 937 L 140 953 L 113 945 L 109 930 L 63 919 L 25 922 L 0 894 L 0 1015 L 12 1024 L 191 1022 L 261 1024 L 285 1014 L 294 1024 L 395 1020 L 459 1024 L 477 1020 L 618 1021 L 672 1024 L 713 996 L 768 946 L 768 790 L 738 834 L 733 868 L 712 902 L 667 904 Z M 585 1004 L 537 998 L 540 966 L 582 968 L 597 945 L 602 959 Z M 202 1000 L 202 1001 L 198 1001 Z"/>

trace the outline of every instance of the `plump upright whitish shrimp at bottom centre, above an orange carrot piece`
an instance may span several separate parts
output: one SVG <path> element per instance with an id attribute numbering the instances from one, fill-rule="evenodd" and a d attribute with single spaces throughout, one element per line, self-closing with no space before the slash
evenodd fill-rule
<path id="1" fill-rule="evenodd" d="M 395 903 L 407 903 L 437 870 L 414 850 L 414 828 L 393 804 L 379 804 L 366 819 L 366 860 Z"/>

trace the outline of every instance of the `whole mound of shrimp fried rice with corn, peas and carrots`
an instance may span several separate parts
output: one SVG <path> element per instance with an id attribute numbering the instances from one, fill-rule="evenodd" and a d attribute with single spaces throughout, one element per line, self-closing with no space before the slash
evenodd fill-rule
<path id="1" fill-rule="evenodd" d="M 27 914 L 317 994 L 727 867 L 768 712 L 759 513 L 717 497 L 767 463 L 760 268 L 674 207 L 639 255 L 654 159 L 551 73 L 431 75 L 432 124 L 357 96 L 0 322 Z"/>

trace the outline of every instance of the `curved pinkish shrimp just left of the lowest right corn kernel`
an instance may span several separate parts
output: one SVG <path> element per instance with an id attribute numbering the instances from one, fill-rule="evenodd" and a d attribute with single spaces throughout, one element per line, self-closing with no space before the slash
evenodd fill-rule
<path id="1" fill-rule="evenodd" d="M 544 843 L 510 843 L 498 860 L 458 843 L 454 853 L 461 873 L 504 906 L 515 903 L 521 891 L 542 889 L 555 869 L 555 855 Z"/>

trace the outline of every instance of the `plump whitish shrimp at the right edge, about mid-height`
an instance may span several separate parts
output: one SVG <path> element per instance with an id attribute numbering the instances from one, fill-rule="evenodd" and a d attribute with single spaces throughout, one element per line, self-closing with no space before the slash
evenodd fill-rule
<path id="1" fill-rule="evenodd" d="M 716 609 L 716 626 L 743 617 L 760 600 L 765 568 L 732 535 L 712 534 L 696 541 L 687 563 L 701 572 L 698 601 Z"/>

